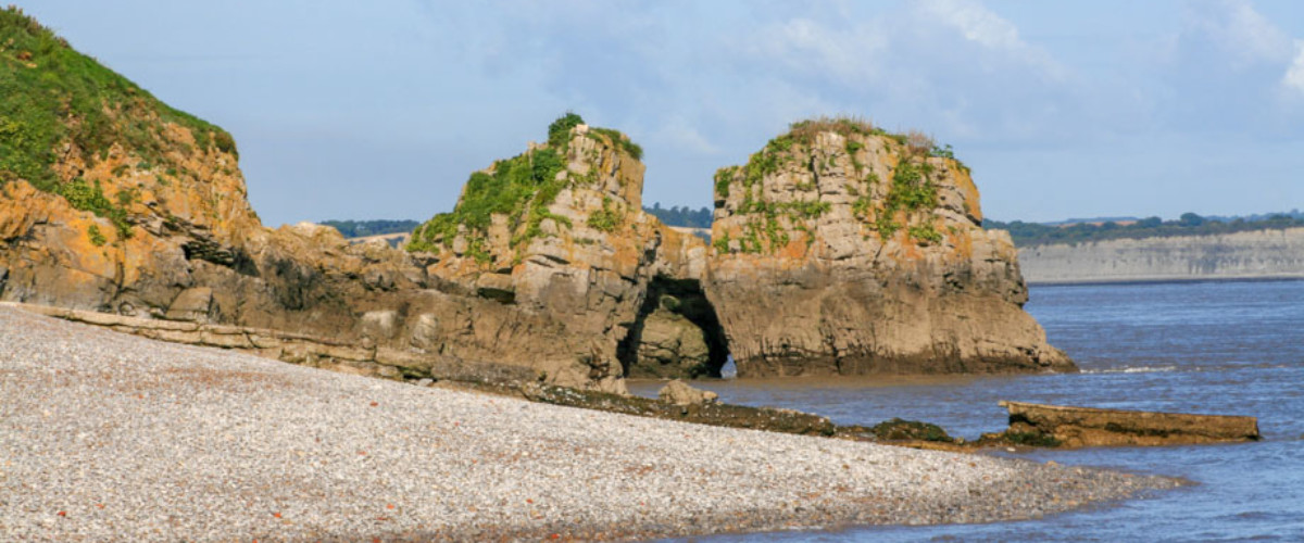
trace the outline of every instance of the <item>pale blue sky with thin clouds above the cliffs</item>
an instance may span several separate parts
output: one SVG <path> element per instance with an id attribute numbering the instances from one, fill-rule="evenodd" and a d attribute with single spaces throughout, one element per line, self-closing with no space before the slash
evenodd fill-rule
<path id="1" fill-rule="evenodd" d="M 1000 220 L 1304 207 L 1294 0 L 17 4 L 230 130 L 270 225 L 449 211 L 567 111 L 664 207 L 820 115 L 952 145 Z"/>

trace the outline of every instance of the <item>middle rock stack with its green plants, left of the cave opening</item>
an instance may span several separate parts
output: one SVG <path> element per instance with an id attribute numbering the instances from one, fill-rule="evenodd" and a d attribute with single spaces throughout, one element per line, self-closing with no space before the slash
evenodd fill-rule
<path id="1" fill-rule="evenodd" d="M 484 314 L 469 315 L 480 336 L 458 337 L 450 353 L 552 361 L 566 372 L 578 369 L 563 362 L 579 361 L 584 378 L 619 388 L 613 379 L 636 363 L 621 345 L 651 313 L 649 285 L 699 279 L 705 257 L 700 240 L 642 211 L 640 152 L 626 135 L 569 115 L 548 143 L 473 173 L 452 212 L 413 232 L 408 249 L 430 262 L 428 273 L 510 315 L 485 332 L 475 322 Z"/>

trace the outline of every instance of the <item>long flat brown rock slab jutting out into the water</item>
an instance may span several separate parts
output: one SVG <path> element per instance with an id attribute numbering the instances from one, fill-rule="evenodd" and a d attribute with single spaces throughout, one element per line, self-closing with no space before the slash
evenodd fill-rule
<path id="1" fill-rule="evenodd" d="M 1254 417 L 1131 411 L 1001 401 L 1015 434 L 1050 435 L 1065 447 L 1256 441 Z"/>

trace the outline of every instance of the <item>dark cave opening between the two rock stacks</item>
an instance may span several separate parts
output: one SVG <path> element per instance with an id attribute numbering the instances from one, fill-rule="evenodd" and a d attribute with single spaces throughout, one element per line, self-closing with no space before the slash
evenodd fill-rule
<path id="1" fill-rule="evenodd" d="M 719 378 L 729 342 L 699 281 L 659 276 L 615 355 L 626 378 Z"/>

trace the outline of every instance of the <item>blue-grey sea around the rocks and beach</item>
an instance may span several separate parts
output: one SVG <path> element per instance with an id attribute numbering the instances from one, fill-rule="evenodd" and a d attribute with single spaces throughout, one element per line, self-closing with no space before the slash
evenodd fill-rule
<path id="1" fill-rule="evenodd" d="M 841 425 L 893 417 L 953 436 L 1005 426 L 1000 400 L 1258 417 L 1264 440 L 994 454 L 1180 477 L 1193 484 L 1030 521 L 867 526 L 700 542 L 1283 540 L 1304 542 L 1304 281 L 1031 286 L 1028 311 L 1080 374 L 721 379 L 732 404 L 818 413 Z M 631 391 L 655 395 L 657 383 Z"/>

